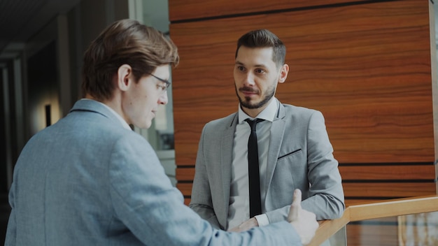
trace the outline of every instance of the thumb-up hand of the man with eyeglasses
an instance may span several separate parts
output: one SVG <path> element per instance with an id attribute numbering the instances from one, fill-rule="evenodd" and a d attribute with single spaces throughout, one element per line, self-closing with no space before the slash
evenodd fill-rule
<path id="1" fill-rule="evenodd" d="M 301 208 L 301 191 L 299 189 L 294 191 L 288 222 L 297 231 L 303 245 L 310 243 L 313 236 L 315 236 L 316 229 L 318 229 L 319 224 L 316 221 L 316 215 Z"/>

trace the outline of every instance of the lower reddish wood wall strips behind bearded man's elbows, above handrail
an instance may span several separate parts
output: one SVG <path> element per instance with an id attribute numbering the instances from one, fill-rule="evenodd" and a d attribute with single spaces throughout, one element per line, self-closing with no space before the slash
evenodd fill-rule
<path id="1" fill-rule="evenodd" d="M 346 203 L 429 195 L 435 192 L 435 165 L 339 166 Z M 178 189 L 190 197 L 195 168 L 178 168 Z M 188 201 L 190 202 L 190 201 Z"/>

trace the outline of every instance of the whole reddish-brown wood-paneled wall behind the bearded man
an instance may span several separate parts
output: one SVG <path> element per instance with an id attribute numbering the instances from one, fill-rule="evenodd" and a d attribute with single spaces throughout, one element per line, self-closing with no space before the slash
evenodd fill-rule
<path id="1" fill-rule="evenodd" d="M 290 73 L 278 85 L 278 99 L 325 115 L 349 201 L 388 198 L 392 185 L 398 193 L 391 197 L 435 194 L 429 2 L 341 2 L 348 1 L 301 8 L 288 4 L 306 1 L 278 0 L 275 9 L 285 11 L 239 15 L 228 1 L 169 1 L 170 13 L 192 9 L 174 15 L 170 25 L 181 55 L 172 76 L 176 178 L 186 203 L 202 126 L 237 109 L 236 41 L 258 28 L 273 31 L 288 50 Z M 193 20 L 202 17 L 197 8 L 211 18 Z M 370 196 L 369 190 L 379 192 Z"/>

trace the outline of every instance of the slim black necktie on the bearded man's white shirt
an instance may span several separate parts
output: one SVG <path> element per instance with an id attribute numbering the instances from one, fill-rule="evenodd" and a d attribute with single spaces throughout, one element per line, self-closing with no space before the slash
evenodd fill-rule
<path id="1" fill-rule="evenodd" d="M 248 139 L 248 181 L 249 181 L 249 214 L 250 218 L 262 213 L 262 202 L 260 201 L 260 174 L 259 174 L 259 154 L 257 148 L 257 133 L 255 126 L 262 119 L 246 119 L 251 127 Z"/>

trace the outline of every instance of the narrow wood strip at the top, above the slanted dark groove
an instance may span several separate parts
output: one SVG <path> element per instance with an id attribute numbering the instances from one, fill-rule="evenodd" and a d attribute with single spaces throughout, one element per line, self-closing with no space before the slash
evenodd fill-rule
<path id="1" fill-rule="evenodd" d="M 366 1 L 366 0 L 365 0 Z M 169 19 L 171 22 L 224 15 L 243 15 L 248 13 L 284 10 L 290 8 L 324 8 L 338 3 L 357 2 L 354 0 L 169 0 Z"/>

